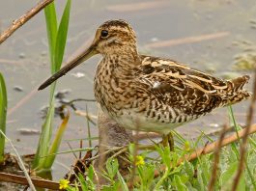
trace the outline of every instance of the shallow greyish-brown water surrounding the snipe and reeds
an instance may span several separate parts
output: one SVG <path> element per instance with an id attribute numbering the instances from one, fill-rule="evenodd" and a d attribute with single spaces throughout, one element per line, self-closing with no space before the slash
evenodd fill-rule
<path id="1" fill-rule="evenodd" d="M 64 7 L 58 1 L 58 11 Z M 34 0 L 17 3 L 14 0 L 0 3 L 0 30 L 35 5 Z M 85 1 L 75 0 L 71 5 L 71 25 L 66 49 L 66 60 L 77 54 L 94 36 L 96 28 L 105 20 L 122 18 L 131 23 L 137 33 L 139 50 L 184 62 L 193 68 L 211 71 L 216 76 L 238 76 L 250 71 L 234 69 L 235 57 L 241 53 L 255 53 L 256 4 L 255 0 L 151 0 L 151 1 Z M 209 38 L 209 37 L 212 37 Z M 90 59 L 85 65 L 73 69 L 58 82 L 57 90 L 71 89 L 68 99 L 94 98 L 92 79 L 100 56 Z M 49 76 L 49 60 L 43 13 L 37 14 L 27 24 L 0 46 L 0 70 L 5 75 L 9 116 L 7 135 L 14 140 L 20 153 L 36 150 L 39 134 L 23 135 L 19 129 L 41 130 L 41 108 L 47 104 L 48 90 L 36 89 Z M 82 72 L 84 77 L 72 74 Z M 16 91 L 14 88 L 21 88 Z M 251 85 L 248 85 L 250 89 Z M 34 94 L 35 93 L 35 94 Z M 26 99 L 23 99 L 27 97 Z M 22 102 L 20 102 L 23 99 Z M 76 104 L 85 109 L 85 104 Z M 234 106 L 239 123 L 244 123 L 248 101 Z M 88 109 L 96 114 L 95 103 Z M 199 130 L 212 132 L 228 122 L 227 109 L 218 109 L 213 114 L 189 123 L 179 131 L 195 137 Z M 56 119 L 56 126 L 60 123 Z M 71 114 L 71 122 L 64 140 L 87 137 L 86 122 Z M 187 130 L 189 129 L 189 130 Z M 92 128 L 97 135 L 97 128 Z M 71 142 L 78 148 L 78 141 Z M 63 142 L 61 150 L 69 150 Z M 57 157 L 60 163 L 70 166 L 72 154 Z M 54 166 L 55 178 L 67 170 L 60 163 Z"/>

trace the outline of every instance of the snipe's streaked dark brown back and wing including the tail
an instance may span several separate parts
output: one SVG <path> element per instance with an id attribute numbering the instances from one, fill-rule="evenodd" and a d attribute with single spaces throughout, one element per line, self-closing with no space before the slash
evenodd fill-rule
<path id="1" fill-rule="evenodd" d="M 161 99 L 166 98 L 167 95 L 172 102 L 170 104 L 180 97 L 179 101 L 197 99 L 191 103 L 193 106 L 208 105 L 215 108 L 240 102 L 251 95 L 243 90 L 243 86 L 249 80 L 248 75 L 232 80 L 222 80 L 169 59 L 141 55 L 141 60 L 138 82 L 141 85 L 147 84 L 152 94 L 162 95 Z M 207 99 L 213 104 L 209 105 Z M 183 106 L 182 102 L 178 104 Z M 200 110 L 202 109 L 205 110 L 205 108 Z"/>

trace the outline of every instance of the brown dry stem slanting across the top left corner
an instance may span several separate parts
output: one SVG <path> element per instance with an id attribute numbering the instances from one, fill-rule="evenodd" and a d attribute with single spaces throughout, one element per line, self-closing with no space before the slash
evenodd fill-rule
<path id="1" fill-rule="evenodd" d="M 12 25 L 0 35 L 0 44 L 6 41 L 19 27 L 25 24 L 34 15 L 38 14 L 44 7 L 52 3 L 54 0 L 42 0 L 35 7 L 14 20 Z"/>

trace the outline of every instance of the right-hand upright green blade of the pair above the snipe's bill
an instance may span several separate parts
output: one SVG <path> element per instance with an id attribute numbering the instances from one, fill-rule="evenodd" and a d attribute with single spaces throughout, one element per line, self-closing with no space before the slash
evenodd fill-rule
<path id="1" fill-rule="evenodd" d="M 63 55 L 64 55 L 68 31 L 69 31 L 70 13 L 71 13 L 71 0 L 68 0 L 65 10 L 62 14 L 60 26 L 57 32 L 55 54 L 54 54 L 55 72 L 61 68 L 61 64 L 63 61 Z"/>

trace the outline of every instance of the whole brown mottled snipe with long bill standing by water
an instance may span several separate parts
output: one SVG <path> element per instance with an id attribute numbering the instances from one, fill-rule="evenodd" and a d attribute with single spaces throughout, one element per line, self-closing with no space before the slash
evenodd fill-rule
<path id="1" fill-rule="evenodd" d="M 222 80 L 174 60 L 139 54 L 135 32 L 124 20 L 104 22 L 89 48 L 39 90 L 96 54 L 103 57 L 94 79 L 102 111 L 125 128 L 161 133 L 165 143 L 175 127 L 250 96 L 242 89 L 247 75 Z"/>

